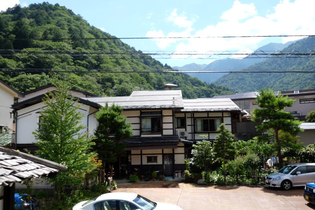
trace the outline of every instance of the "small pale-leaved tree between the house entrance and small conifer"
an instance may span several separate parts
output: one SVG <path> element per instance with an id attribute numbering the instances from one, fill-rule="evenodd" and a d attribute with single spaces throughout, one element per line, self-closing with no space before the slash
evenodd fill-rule
<path id="1" fill-rule="evenodd" d="M 211 142 L 206 140 L 198 141 L 193 147 L 192 158 L 190 160 L 191 164 L 208 171 L 215 157 Z"/>

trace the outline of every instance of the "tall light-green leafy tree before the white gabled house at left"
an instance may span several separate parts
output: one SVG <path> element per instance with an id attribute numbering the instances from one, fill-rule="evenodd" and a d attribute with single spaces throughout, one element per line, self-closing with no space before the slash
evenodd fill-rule
<path id="1" fill-rule="evenodd" d="M 80 104 L 68 93 L 65 83 L 56 82 L 56 92 L 50 92 L 43 103 L 46 107 L 40 112 L 40 129 L 33 132 L 37 139 L 36 154 L 41 158 L 63 164 L 68 167 L 66 172 L 59 172 L 53 183 L 58 201 L 64 195 L 65 188 L 82 184 L 85 173 L 93 167 L 95 152 L 89 152 L 94 145 L 92 138 L 82 124 L 83 114 L 78 109 Z M 72 197 L 73 198 L 73 197 Z"/>

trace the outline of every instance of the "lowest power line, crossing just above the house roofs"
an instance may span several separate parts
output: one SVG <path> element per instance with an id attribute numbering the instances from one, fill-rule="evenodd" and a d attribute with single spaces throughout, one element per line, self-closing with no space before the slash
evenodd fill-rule
<path id="1" fill-rule="evenodd" d="M 224 71 L 224 70 L 191 70 L 191 71 L 174 71 L 173 69 L 152 69 L 144 71 L 139 71 L 138 69 L 131 69 L 128 71 L 112 71 L 111 69 L 86 69 L 88 71 L 82 71 L 82 69 L 72 69 L 71 71 L 54 71 L 54 69 L 37 69 L 37 68 L 22 68 L 22 69 L 9 69 L 9 68 L 0 68 L 0 71 L 5 72 L 26 72 L 26 73 L 315 73 L 315 70 L 281 70 L 281 71 L 270 71 L 270 70 L 256 70 L 256 71 L 244 71 L 244 70 L 233 70 L 233 71 Z"/>

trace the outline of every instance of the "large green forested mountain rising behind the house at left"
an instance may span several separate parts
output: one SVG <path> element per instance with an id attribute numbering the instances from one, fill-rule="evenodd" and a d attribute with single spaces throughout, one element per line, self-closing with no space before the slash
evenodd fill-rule
<path id="1" fill-rule="evenodd" d="M 104 71 L 152 71 L 169 69 L 110 34 L 90 26 L 80 15 L 58 4 L 31 4 L 26 8 L 15 6 L 0 13 L 0 49 L 20 49 L 21 53 L 2 51 L 0 68 L 52 69 L 50 73 L 0 72 L 0 79 L 19 91 L 28 91 L 50 82 L 52 75 L 70 82 L 72 88 L 98 95 L 123 96 L 133 90 L 161 89 L 165 83 L 174 83 L 186 98 L 210 97 L 231 93 L 215 84 L 206 84 L 198 78 L 175 73 L 88 73 L 89 69 Z M 128 37 L 128 34 L 127 36 Z M 30 39 L 31 38 L 31 39 Z M 60 39 L 70 38 L 70 39 Z M 80 52 L 80 55 L 29 54 L 40 50 Z M 131 52 L 132 54 L 91 54 L 91 52 Z M 61 71 L 53 73 L 54 71 Z M 80 72 L 66 72 L 80 71 Z"/>

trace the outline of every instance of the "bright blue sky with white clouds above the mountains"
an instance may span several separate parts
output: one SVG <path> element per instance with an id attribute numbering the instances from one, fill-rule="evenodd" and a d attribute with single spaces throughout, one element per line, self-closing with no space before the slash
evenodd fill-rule
<path id="1" fill-rule="evenodd" d="M 15 3 L 27 6 L 41 2 L 0 0 L 0 10 L 5 10 Z M 50 0 L 49 3 L 66 6 L 74 13 L 80 14 L 90 25 L 116 37 L 304 35 L 315 32 L 313 0 Z M 123 42 L 142 51 L 202 53 L 209 50 L 251 52 L 270 42 L 285 43 L 296 39 L 298 38 L 138 39 Z M 160 59 L 160 61 L 171 66 L 182 66 L 192 62 L 208 64 L 213 60 Z"/>

